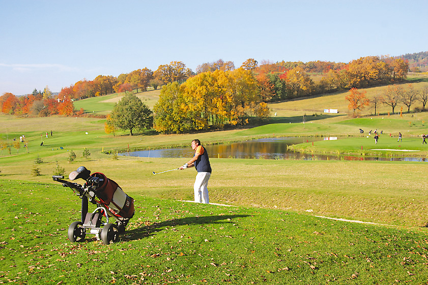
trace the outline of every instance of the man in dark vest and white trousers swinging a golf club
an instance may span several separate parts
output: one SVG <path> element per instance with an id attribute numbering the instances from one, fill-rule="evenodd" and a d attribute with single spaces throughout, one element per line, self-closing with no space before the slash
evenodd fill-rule
<path id="1" fill-rule="evenodd" d="M 193 158 L 183 166 L 180 166 L 180 169 L 183 170 L 192 166 L 196 168 L 197 175 L 193 186 L 195 202 L 209 204 L 208 180 L 211 176 L 211 165 L 210 160 L 208 159 L 208 153 L 199 140 L 192 141 L 192 149 L 195 151 Z"/>

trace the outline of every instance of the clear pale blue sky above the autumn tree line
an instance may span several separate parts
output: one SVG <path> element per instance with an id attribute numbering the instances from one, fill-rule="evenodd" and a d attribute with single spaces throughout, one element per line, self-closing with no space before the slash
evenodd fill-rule
<path id="1" fill-rule="evenodd" d="M 426 1 L 0 0 L 0 96 L 177 60 L 349 62 L 428 51 Z"/>

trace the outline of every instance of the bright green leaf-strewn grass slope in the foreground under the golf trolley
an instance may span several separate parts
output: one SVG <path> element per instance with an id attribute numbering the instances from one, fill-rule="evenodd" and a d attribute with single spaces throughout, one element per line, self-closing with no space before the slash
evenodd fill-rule
<path id="1" fill-rule="evenodd" d="M 394 284 L 426 282 L 425 231 L 284 210 L 148 198 L 120 242 L 67 240 L 79 199 L 2 180 L 0 281 L 21 284 Z"/>

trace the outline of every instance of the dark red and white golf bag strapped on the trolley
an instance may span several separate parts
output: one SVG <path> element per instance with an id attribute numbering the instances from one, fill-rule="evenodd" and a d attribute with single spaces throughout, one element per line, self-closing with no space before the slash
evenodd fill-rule
<path id="1" fill-rule="evenodd" d="M 105 206 L 124 218 L 131 218 L 134 215 L 134 199 L 126 195 L 118 183 L 99 172 L 91 176 L 103 179 L 102 184 L 94 192 Z"/>

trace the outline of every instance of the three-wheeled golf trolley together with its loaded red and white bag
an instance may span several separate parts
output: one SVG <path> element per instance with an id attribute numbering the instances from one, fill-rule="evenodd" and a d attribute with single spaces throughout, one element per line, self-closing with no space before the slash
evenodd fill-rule
<path id="1" fill-rule="evenodd" d="M 69 175 L 70 180 L 82 178 L 82 185 L 63 180 L 64 176 L 52 176 L 54 181 L 70 187 L 82 199 L 81 221 L 75 221 L 68 228 L 71 242 L 83 241 L 87 234 L 93 234 L 104 244 L 119 240 L 119 234 L 125 232 L 128 221 L 134 215 L 134 200 L 126 195 L 119 185 L 104 174 L 81 166 Z M 88 201 L 97 208 L 88 213 Z M 114 221 L 111 221 L 111 220 Z"/>

